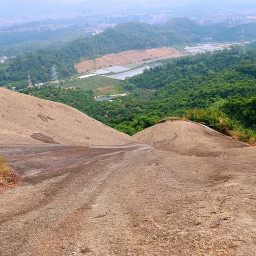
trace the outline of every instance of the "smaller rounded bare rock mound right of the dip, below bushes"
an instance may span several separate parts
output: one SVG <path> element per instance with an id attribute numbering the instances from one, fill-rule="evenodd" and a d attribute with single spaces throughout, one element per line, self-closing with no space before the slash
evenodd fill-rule
<path id="1" fill-rule="evenodd" d="M 134 135 L 148 145 L 182 155 L 218 156 L 223 150 L 248 147 L 208 127 L 187 121 L 157 124 Z"/>

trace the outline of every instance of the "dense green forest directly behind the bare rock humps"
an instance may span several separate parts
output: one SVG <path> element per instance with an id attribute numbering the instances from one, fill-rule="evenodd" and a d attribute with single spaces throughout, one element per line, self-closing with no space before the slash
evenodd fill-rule
<path id="1" fill-rule="evenodd" d="M 127 134 L 170 117 L 187 117 L 222 133 L 255 143 L 256 50 L 243 57 L 238 49 L 164 62 L 123 82 L 130 95 L 97 102 L 82 89 L 45 86 L 27 89 L 39 98 L 73 106 Z"/>

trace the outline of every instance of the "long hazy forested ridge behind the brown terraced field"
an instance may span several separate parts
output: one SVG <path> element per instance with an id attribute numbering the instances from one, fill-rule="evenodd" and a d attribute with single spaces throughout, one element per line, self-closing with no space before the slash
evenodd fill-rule
<path id="1" fill-rule="evenodd" d="M 252 33 L 247 33 L 246 26 L 245 35 L 250 36 L 246 39 L 252 39 Z M 255 29 L 256 25 L 250 27 L 250 31 L 253 28 Z M 0 66 L 0 86 L 26 81 L 28 74 L 30 74 L 33 82 L 49 81 L 50 70 L 53 65 L 57 66 L 60 77 L 68 77 L 76 73 L 74 64 L 81 58 L 92 59 L 107 53 L 131 49 L 197 43 L 202 42 L 205 36 L 212 36 L 214 40 L 215 37 L 219 37 L 218 31 L 223 29 L 226 31 L 225 40 L 233 41 L 233 30 L 229 34 L 230 28 L 225 25 L 199 26 L 186 18 L 175 18 L 164 25 L 147 25 L 140 22 L 123 23 L 115 28 L 105 30 L 100 35 L 67 43 L 58 50 L 19 55 Z M 236 30 L 241 31 L 241 27 L 237 27 Z"/>

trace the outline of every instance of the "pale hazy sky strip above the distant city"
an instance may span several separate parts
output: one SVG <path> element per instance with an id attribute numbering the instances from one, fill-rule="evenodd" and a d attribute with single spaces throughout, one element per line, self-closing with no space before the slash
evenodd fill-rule
<path id="1" fill-rule="evenodd" d="M 243 7 L 256 9 L 256 0 L 0 0 L 4 17 L 19 14 L 45 14 L 53 12 L 81 11 L 90 9 L 115 10 L 134 7 L 207 7 L 211 10 L 221 7 Z M 196 9 L 195 9 L 196 10 Z"/>

